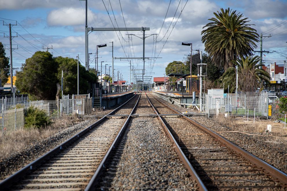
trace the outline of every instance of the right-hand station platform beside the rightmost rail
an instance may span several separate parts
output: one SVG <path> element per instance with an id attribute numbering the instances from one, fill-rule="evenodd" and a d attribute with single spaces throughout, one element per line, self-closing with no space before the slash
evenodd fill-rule
<path id="1" fill-rule="evenodd" d="M 187 107 L 192 105 L 192 95 L 186 92 L 167 92 L 167 91 L 152 91 L 152 94 L 162 98 L 169 103 L 175 104 L 179 107 Z M 198 104 L 198 96 L 195 97 L 195 104 Z"/>

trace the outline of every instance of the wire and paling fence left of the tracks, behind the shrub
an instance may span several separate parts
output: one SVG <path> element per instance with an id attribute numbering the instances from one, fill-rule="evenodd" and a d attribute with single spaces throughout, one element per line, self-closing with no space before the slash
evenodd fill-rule
<path id="1" fill-rule="evenodd" d="M 1 99 L 0 102 L 0 123 L 2 132 L 23 128 L 25 124 L 24 110 L 30 106 L 45 110 L 52 119 L 71 114 L 83 116 L 90 114 L 92 111 L 92 98 L 49 101 L 18 100 L 13 103 L 7 99 Z"/>

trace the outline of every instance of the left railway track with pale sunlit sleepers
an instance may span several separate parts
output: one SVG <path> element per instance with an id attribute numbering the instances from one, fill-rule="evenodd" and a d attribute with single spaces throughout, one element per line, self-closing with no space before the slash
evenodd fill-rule
<path id="1" fill-rule="evenodd" d="M 108 115 L 131 112 L 135 95 Z M 136 102 L 136 103 L 135 103 Z M 107 115 L 106 115 L 107 116 Z M 93 125 L 0 182 L 7 190 L 84 190 L 103 157 L 126 124 L 126 119 L 104 116 Z M 17 182 L 17 184 L 15 184 Z"/>

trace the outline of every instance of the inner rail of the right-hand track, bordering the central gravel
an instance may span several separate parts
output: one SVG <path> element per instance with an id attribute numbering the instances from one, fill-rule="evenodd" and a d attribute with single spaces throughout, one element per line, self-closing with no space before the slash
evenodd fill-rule
<path id="1" fill-rule="evenodd" d="M 146 95 L 146 97 L 148 99 L 147 95 Z M 200 179 L 200 177 L 196 173 L 195 169 L 192 167 L 192 165 L 190 164 L 189 160 L 187 159 L 187 157 L 185 156 L 185 154 L 181 150 L 179 144 L 176 142 L 174 136 L 172 135 L 172 133 L 170 132 L 170 130 L 168 129 L 168 127 L 166 126 L 166 124 L 162 120 L 162 117 L 157 112 L 157 109 L 150 102 L 150 99 L 148 99 L 148 102 L 150 103 L 150 106 L 152 107 L 152 110 L 154 110 L 154 112 L 157 114 L 158 119 L 161 121 L 161 124 L 163 125 L 163 129 L 168 134 L 171 142 L 173 143 L 174 149 L 175 149 L 176 153 L 179 155 L 180 160 L 183 162 L 185 168 L 187 168 L 187 171 L 191 175 L 191 177 L 197 182 L 199 190 L 207 190 L 207 188 L 205 187 L 203 181 Z"/>

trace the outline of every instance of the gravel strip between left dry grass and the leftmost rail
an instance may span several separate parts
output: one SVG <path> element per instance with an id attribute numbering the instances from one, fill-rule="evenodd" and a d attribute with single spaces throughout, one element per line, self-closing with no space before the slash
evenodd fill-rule
<path id="1" fill-rule="evenodd" d="M 0 179 L 3 180 L 6 176 L 20 170 L 25 165 L 47 153 L 47 151 L 53 149 L 60 143 L 69 139 L 95 122 L 96 119 L 84 120 L 83 122 L 68 127 L 67 129 L 62 130 L 59 133 L 56 133 L 54 136 L 44 139 L 41 142 L 27 146 L 27 148 L 20 152 L 12 153 L 8 158 L 0 160 Z"/>

